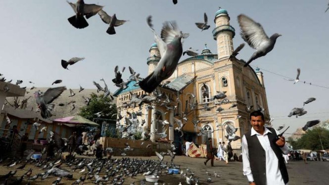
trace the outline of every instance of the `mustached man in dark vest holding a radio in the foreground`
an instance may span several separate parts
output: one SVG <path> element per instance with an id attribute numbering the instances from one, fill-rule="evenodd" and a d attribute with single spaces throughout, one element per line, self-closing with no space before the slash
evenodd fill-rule
<path id="1" fill-rule="evenodd" d="M 287 185 L 288 172 L 283 154 L 289 148 L 284 137 L 273 128 L 264 127 L 265 117 L 262 112 L 250 114 L 251 131 L 242 137 L 243 175 L 249 185 Z"/>

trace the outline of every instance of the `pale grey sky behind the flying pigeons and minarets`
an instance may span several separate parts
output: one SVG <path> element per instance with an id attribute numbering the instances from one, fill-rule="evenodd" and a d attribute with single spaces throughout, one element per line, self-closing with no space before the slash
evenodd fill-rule
<path id="1" fill-rule="evenodd" d="M 328 30 L 329 12 L 325 13 L 328 0 L 85 0 L 85 3 L 104 5 L 103 10 L 118 19 L 129 20 L 116 27 L 116 35 L 106 33 L 108 25 L 98 15 L 88 19 L 89 27 L 76 29 L 67 18 L 74 15 L 65 0 L 1 0 L 0 1 L 0 73 L 13 82 L 28 81 L 36 87 L 50 87 L 57 79 L 63 85 L 78 89 L 79 85 L 94 89 L 93 80 L 104 78 L 111 92 L 116 87 L 110 83 L 114 67 L 131 66 L 144 77 L 147 74 L 146 59 L 153 34 L 146 25 L 146 17 L 152 15 L 155 30 L 160 33 L 164 21 L 176 20 L 179 28 L 190 36 L 183 49 L 192 47 L 202 50 L 204 44 L 217 53 L 212 30 L 218 7 L 227 9 L 230 24 L 235 28 L 234 47 L 244 43 L 239 36 L 237 15 L 243 13 L 259 22 L 270 37 L 282 34 L 275 48 L 266 56 L 251 64 L 261 69 L 295 78 L 301 69 L 300 80 L 329 87 L 328 82 Z M 210 29 L 200 32 L 195 22 L 208 15 Z M 237 58 L 247 60 L 254 50 L 245 46 Z M 61 59 L 85 57 L 86 59 L 61 67 Z M 182 56 L 181 60 L 187 58 Z M 264 73 L 269 111 L 275 128 L 290 126 L 286 133 L 293 133 L 307 121 L 329 119 L 329 89 L 283 80 L 282 77 Z M 123 77 L 128 78 L 128 70 Z M 316 101 L 305 105 L 306 115 L 288 118 L 290 110 L 302 107 L 309 97 Z M 285 135 L 289 136 L 289 135 Z"/>

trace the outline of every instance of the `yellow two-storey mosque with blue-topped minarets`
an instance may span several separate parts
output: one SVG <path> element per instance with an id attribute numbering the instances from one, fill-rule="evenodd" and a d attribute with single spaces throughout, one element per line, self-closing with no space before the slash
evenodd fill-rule
<path id="1" fill-rule="evenodd" d="M 143 106 L 143 115 L 138 116 L 139 122 L 136 124 L 143 132 L 154 133 L 150 138 L 153 142 L 160 138 L 158 133 L 166 132 L 167 139 L 172 140 L 177 147 L 186 140 L 203 144 L 208 138 L 212 138 L 213 147 L 217 148 L 219 142 L 228 143 L 225 138 L 228 125 L 237 128 L 235 134 L 241 138 L 251 129 L 247 106 L 253 105 L 255 109 L 257 105 L 260 105 L 265 108 L 266 119 L 270 117 L 263 73 L 259 70 L 255 72 L 250 66 L 243 67 L 245 62 L 235 57 L 229 59 L 234 51 L 235 29 L 230 25 L 227 10 L 219 9 L 215 14 L 214 22 L 216 27 L 212 34 L 217 42 L 217 54 L 213 54 L 205 45 L 201 54 L 178 63 L 173 75 L 165 80 L 170 81 L 169 84 L 159 86 L 161 92 L 171 99 L 167 105 L 172 107 L 171 110 L 161 106 L 163 100 L 153 103 L 153 109 L 146 109 L 146 106 Z M 160 58 L 160 52 L 155 43 L 149 49 L 148 74 L 154 70 Z M 139 110 L 139 107 L 124 108 L 124 105 L 130 101 L 130 92 L 145 94 L 139 86 L 134 86 L 135 84 L 135 81 L 131 81 L 127 89 L 114 93 L 117 96 L 117 106 L 121 109 L 122 116 L 127 115 L 127 111 Z M 207 90 L 209 96 L 202 95 Z M 217 92 L 226 92 L 229 103 L 216 105 L 215 100 L 211 101 L 211 96 Z M 208 108 L 205 108 L 207 103 L 209 103 Z M 230 108 L 233 104 L 237 106 Z M 219 106 L 224 110 L 216 111 Z M 175 130 L 178 127 L 175 118 L 183 120 L 184 114 L 188 121 L 183 121 L 185 123 L 182 129 L 184 136 L 181 137 L 181 133 Z M 238 115 L 239 118 L 237 118 Z M 158 120 L 167 120 L 171 126 L 163 128 Z M 200 131 L 194 127 L 193 120 L 200 121 L 197 126 L 203 129 L 203 135 L 197 136 Z M 125 125 L 124 119 L 121 120 L 121 124 Z M 231 145 L 233 149 L 240 150 L 241 139 L 233 141 Z"/>

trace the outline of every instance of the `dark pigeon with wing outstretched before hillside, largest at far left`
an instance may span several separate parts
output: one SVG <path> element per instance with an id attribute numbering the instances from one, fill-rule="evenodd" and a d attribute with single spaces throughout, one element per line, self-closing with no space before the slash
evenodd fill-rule
<path id="1" fill-rule="evenodd" d="M 54 105 L 49 103 L 55 100 L 65 90 L 66 87 L 64 86 L 58 88 L 49 88 L 45 93 L 40 93 L 39 91 L 34 93 L 36 103 L 38 104 L 38 108 L 41 110 L 41 116 L 44 119 L 52 116 L 50 111 L 54 108 Z"/>

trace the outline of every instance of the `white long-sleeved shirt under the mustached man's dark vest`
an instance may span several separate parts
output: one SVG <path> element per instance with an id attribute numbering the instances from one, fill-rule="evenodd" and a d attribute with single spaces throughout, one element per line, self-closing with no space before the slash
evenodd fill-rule
<path id="1" fill-rule="evenodd" d="M 268 138 L 268 133 L 272 133 L 269 129 L 264 127 L 264 135 L 257 133 L 253 128 L 251 128 L 251 136 L 256 135 L 260 144 L 265 150 L 266 157 L 266 185 L 284 185 L 283 178 L 279 169 L 279 160 L 271 148 L 270 140 Z M 280 133 L 275 130 L 277 135 Z M 285 144 L 281 147 L 283 154 L 289 153 L 289 148 Z M 242 137 L 242 163 L 243 163 L 243 175 L 247 176 L 248 181 L 254 181 L 254 178 L 250 169 L 249 162 L 249 152 L 248 152 L 248 143 L 245 136 Z M 287 185 L 287 184 L 286 184 Z"/>

